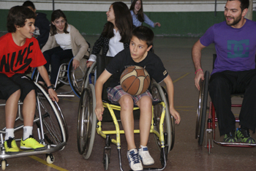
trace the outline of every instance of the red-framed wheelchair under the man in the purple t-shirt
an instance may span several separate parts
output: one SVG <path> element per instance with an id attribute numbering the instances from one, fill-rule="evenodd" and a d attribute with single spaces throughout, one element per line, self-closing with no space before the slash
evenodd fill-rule
<path id="1" fill-rule="evenodd" d="M 217 58 L 217 55 L 214 54 L 214 61 Z M 214 68 L 214 64 L 213 64 Z M 195 139 L 198 139 L 198 144 L 203 145 L 203 137 L 206 136 L 206 145 L 205 148 L 208 149 L 208 153 L 211 153 L 211 148 L 214 148 L 214 143 L 222 146 L 229 147 L 255 147 L 256 144 L 248 144 L 241 142 L 222 142 L 217 140 L 215 130 L 217 129 L 217 116 L 215 113 L 214 104 L 212 102 L 208 102 L 208 83 L 209 83 L 209 72 L 206 71 L 204 74 L 204 80 L 200 81 L 200 91 L 198 97 L 198 107 L 197 107 L 197 118 L 196 118 L 196 126 L 195 126 Z M 244 94 L 231 94 L 231 97 L 241 97 L 243 98 Z M 231 104 L 231 107 L 241 107 L 241 104 Z M 208 112 L 208 119 L 206 122 Z M 236 118 L 236 122 L 239 122 L 239 118 Z M 206 127 L 207 123 L 207 127 Z M 208 134 L 211 134 L 208 137 Z"/>

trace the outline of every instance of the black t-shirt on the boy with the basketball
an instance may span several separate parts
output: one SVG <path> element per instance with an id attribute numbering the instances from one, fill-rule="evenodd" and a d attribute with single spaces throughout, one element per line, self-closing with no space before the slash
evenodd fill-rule
<path id="1" fill-rule="evenodd" d="M 116 87 L 120 85 L 121 73 L 129 66 L 141 66 L 150 75 L 151 78 L 157 81 L 157 83 L 162 82 L 162 80 L 167 77 L 168 72 L 165 66 L 162 64 L 161 59 L 151 51 L 148 51 L 148 55 L 143 61 L 135 62 L 131 57 L 129 48 L 126 48 L 119 52 L 106 66 L 106 70 L 113 74 L 113 79 L 111 80 L 110 87 Z"/>

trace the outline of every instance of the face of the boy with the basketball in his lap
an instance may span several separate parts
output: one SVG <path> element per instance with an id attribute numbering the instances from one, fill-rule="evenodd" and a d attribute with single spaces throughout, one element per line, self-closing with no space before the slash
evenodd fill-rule
<path id="1" fill-rule="evenodd" d="M 148 54 L 148 50 L 150 50 L 152 47 L 146 44 L 146 41 L 143 41 L 141 39 L 138 39 L 135 36 L 132 36 L 132 39 L 129 43 L 129 51 L 131 53 L 131 57 L 133 61 L 140 62 L 143 61 L 144 58 L 146 58 Z"/>

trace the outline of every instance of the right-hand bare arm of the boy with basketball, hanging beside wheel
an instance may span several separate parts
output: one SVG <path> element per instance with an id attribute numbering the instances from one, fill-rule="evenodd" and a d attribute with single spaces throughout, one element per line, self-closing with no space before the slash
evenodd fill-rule
<path id="1" fill-rule="evenodd" d="M 166 84 L 166 88 L 167 88 L 167 94 L 168 94 L 168 100 L 169 100 L 169 109 L 170 109 L 170 115 L 173 115 L 173 117 L 176 119 L 175 123 L 180 123 L 181 121 L 181 116 L 179 115 L 179 113 L 174 109 L 173 106 L 173 81 L 170 78 L 169 75 L 167 75 L 167 77 L 165 77 L 164 82 Z"/>

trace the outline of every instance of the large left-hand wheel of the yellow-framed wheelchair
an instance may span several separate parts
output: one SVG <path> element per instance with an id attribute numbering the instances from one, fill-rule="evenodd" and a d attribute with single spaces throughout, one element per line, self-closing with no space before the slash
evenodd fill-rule
<path id="1" fill-rule="evenodd" d="M 92 84 L 84 88 L 78 110 L 78 152 L 89 159 L 94 145 L 97 119 L 94 113 L 96 105 L 95 90 Z"/>

